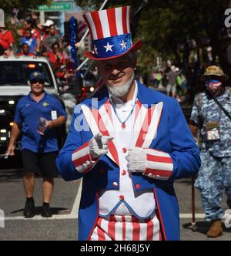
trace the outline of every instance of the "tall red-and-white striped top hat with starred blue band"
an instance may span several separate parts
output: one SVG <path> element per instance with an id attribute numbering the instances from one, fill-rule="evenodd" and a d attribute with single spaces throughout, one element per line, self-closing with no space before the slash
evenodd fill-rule
<path id="1" fill-rule="evenodd" d="M 141 40 L 132 44 L 129 15 L 130 6 L 85 13 L 83 18 L 92 35 L 94 50 L 85 51 L 85 56 L 95 60 L 114 59 L 140 49 Z"/>

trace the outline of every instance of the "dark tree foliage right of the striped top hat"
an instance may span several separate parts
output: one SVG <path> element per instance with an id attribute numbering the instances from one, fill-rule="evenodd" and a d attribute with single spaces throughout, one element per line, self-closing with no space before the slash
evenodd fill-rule
<path id="1" fill-rule="evenodd" d="M 99 8 L 102 2 L 77 1 L 85 10 Z M 132 5 L 133 11 L 141 4 L 138 0 L 109 1 L 109 6 Z M 187 62 L 192 39 L 197 46 L 203 44 L 203 39 L 209 39 L 214 59 L 219 56 L 224 62 L 221 44 L 226 8 L 227 0 L 149 0 L 142 8 L 142 14 L 137 15 L 139 25 L 135 26 L 136 36 L 144 42 L 140 59 L 148 66 L 155 65 L 157 55 L 174 56 L 178 63 Z"/>

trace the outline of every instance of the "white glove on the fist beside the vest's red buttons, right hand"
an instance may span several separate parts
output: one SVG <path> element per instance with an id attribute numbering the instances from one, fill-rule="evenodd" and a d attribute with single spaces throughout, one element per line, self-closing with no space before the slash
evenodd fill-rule
<path id="1" fill-rule="evenodd" d="M 128 172 L 144 173 L 146 170 L 146 152 L 141 147 L 132 147 L 128 150 L 129 153 L 126 157 L 128 161 Z"/>

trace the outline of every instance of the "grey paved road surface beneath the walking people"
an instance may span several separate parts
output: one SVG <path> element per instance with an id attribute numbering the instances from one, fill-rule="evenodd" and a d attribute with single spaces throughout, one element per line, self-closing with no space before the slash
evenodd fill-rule
<path id="1" fill-rule="evenodd" d="M 22 216 L 25 194 L 22 187 L 22 170 L 0 170 L 0 209 L 5 212 L 5 227 L 0 227 L 0 240 L 75 240 L 77 237 L 77 209 L 79 204 L 79 180 L 65 182 L 61 177 L 55 179 L 52 199 L 53 217 L 44 219 L 40 216 L 42 205 L 42 179 L 37 177 L 35 186 L 36 216 L 25 220 Z M 199 194 L 196 192 L 196 231 L 189 227 L 191 187 L 190 180 L 176 182 L 176 194 L 181 213 L 182 240 L 209 240 L 206 230 L 209 225 L 203 221 L 203 210 Z M 226 209 L 226 198 L 223 207 Z M 1 226 L 1 222 L 0 222 Z M 217 240 L 231 240 L 231 228 L 224 228 L 223 236 Z"/>

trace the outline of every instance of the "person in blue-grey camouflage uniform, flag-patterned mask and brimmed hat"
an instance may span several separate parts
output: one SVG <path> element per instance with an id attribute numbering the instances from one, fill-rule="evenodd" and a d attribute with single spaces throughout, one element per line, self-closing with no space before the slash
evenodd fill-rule
<path id="1" fill-rule="evenodd" d="M 206 91 L 196 95 L 190 119 L 193 135 L 200 133 L 201 138 L 202 166 L 195 187 L 200 190 L 206 221 L 211 221 L 207 236 L 218 237 L 222 234 L 224 211 L 220 204 L 224 189 L 231 208 L 231 120 L 213 97 L 231 115 L 231 95 L 230 89 L 223 86 L 228 76 L 218 66 L 209 66 L 203 78 Z"/>

